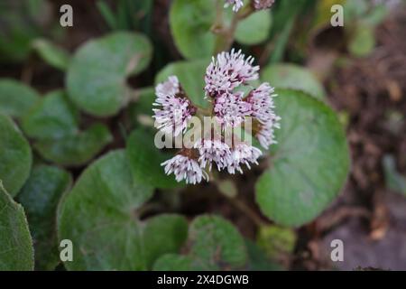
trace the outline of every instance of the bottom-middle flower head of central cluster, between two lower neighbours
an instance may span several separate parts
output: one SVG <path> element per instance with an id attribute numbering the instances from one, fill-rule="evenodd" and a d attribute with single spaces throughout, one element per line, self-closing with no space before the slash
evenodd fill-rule
<path id="1" fill-rule="evenodd" d="M 208 165 L 211 171 L 212 163 L 217 164 L 218 171 L 226 168 L 232 162 L 230 147 L 220 140 L 203 139 L 195 144 L 198 149 L 198 161 L 202 168 Z"/>

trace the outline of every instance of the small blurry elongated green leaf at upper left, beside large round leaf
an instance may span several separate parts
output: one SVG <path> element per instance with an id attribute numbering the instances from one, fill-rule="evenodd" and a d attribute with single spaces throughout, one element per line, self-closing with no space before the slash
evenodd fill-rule
<path id="1" fill-rule="evenodd" d="M 43 61 L 52 67 L 62 71 L 68 69 L 70 56 L 68 51 L 65 51 L 63 48 L 45 39 L 33 41 L 32 48 L 42 57 Z"/>

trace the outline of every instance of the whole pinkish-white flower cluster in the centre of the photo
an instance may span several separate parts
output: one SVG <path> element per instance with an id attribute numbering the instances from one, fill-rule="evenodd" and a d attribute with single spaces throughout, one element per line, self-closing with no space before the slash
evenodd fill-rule
<path id="1" fill-rule="evenodd" d="M 205 132 L 203 136 L 193 139 L 190 148 L 182 148 L 180 153 L 162 163 L 167 174 L 173 173 L 178 182 L 198 183 L 208 180 L 208 171 L 213 164 L 218 171 L 229 173 L 243 172 L 242 166 L 251 168 L 251 163 L 257 164 L 262 155 L 261 150 L 241 140 L 232 137 L 227 141 L 229 129 L 247 123 L 254 125 L 253 135 L 260 144 L 268 149 L 275 144 L 273 131 L 279 128 L 280 117 L 274 113 L 273 88 L 269 83 L 263 83 L 253 89 L 249 82 L 259 78 L 259 67 L 254 66 L 254 58 L 245 58 L 241 51 L 222 52 L 213 58 L 208 65 L 205 76 L 205 98 L 211 104 L 208 117 L 214 117 L 219 126 L 219 135 Z M 243 91 L 250 90 L 245 93 Z M 208 114 L 206 110 L 194 107 L 185 91 L 181 88 L 179 79 L 171 76 L 167 81 L 156 87 L 156 100 L 153 104 L 155 126 L 164 133 L 180 135 L 188 130 L 191 117 L 197 112 L 199 116 Z"/>

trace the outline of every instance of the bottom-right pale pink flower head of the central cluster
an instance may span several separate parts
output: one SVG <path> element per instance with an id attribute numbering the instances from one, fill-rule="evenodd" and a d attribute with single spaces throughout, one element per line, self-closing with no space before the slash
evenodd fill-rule
<path id="1" fill-rule="evenodd" d="M 231 152 L 232 162 L 227 166 L 227 171 L 234 174 L 235 171 L 243 173 L 241 168 L 245 164 L 248 169 L 251 169 L 250 163 L 258 164 L 258 158 L 263 153 L 253 145 L 238 143 L 235 144 Z"/>

